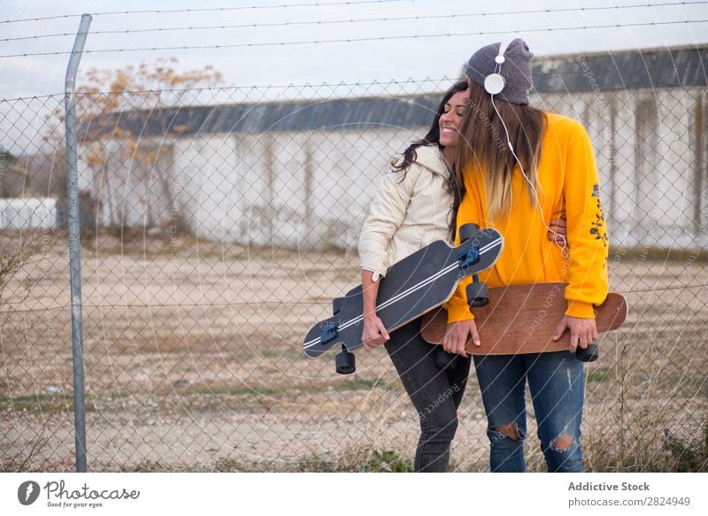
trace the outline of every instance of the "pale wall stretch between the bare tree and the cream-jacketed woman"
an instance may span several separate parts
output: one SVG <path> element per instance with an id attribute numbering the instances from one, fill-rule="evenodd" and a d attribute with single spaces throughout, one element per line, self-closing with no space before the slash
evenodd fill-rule
<path id="1" fill-rule="evenodd" d="M 190 229 L 244 245 L 356 246 L 377 177 L 410 131 L 203 135 L 174 143 Z"/>

